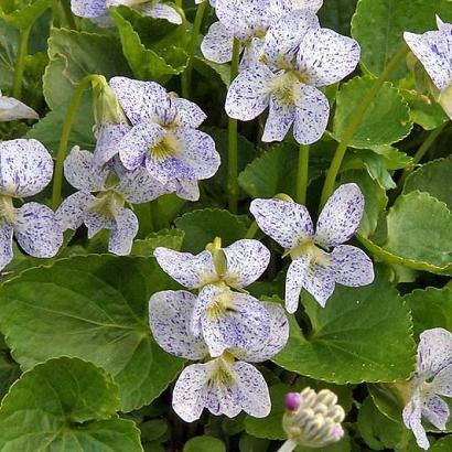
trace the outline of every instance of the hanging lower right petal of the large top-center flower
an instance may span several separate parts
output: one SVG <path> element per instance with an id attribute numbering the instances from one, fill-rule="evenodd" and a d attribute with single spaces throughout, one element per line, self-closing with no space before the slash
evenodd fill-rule
<path id="1" fill-rule="evenodd" d="M 314 86 L 297 84 L 293 88 L 295 121 L 293 137 L 300 144 L 319 141 L 329 123 L 330 104 L 326 96 Z"/>

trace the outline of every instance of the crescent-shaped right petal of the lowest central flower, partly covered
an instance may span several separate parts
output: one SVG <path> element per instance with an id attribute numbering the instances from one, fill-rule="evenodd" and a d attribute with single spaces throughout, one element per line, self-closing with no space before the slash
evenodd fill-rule
<path id="1" fill-rule="evenodd" d="M 260 363 L 271 359 L 286 346 L 289 338 L 289 321 L 282 306 L 275 302 L 262 302 L 270 315 L 270 334 L 268 340 L 259 344 L 256 348 L 247 351 L 235 351 L 234 355 L 238 359 L 248 363 Z"/>

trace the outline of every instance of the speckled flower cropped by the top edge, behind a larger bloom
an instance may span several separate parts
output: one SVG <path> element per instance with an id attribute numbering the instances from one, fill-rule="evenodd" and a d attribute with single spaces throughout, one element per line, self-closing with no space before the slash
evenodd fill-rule
<path id="1" fill-rule="evenodd" d="M 234 39 L 241 45 L 240 68 L 254 66 L 261 56 L 263 37 L 268 29 L 284 14 L 301 10 L 309 14 L 309 20 L 319 26 L 315 12 L 322 1 L 304 0 L 217 0 L 218 22 L 211 25 L 203 40 L 201 50 L 204 56 L 215 63 L 230 62 Z"/>

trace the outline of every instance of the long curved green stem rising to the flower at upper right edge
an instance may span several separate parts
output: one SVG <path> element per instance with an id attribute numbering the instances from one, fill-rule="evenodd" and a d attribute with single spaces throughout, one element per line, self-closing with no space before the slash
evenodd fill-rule
<path id="1" fill-rule="evenodd" d="M 358 107 L 355 109 L 354 115 L 352 116 L 348 126 L 346 127 L 342 140 L 337 146 L 336 152 L 334 154 L 333 161 L 331 162 L 330 169 L 326 173 L 326 180 L 325 184 L 323 185 L 323 191 L 322 191 L 322 198 L 321 198 L 321 205 L 320 208 L 322 208 L 325 204 L 329 197 L 332 195 L 333 190 L 334 190 L 334 183 L 336 181 L 337 173 L 340 171 L 342 161 L 344 159 L 345 152 L 348 148 L 349 142 L 352 141 L 356 130 L 358 129 L 359 125 L 362 123 L 365 112 L 367 109 L 370 107 L 375 96 L 378 94 L 379 89 L 381 86 L 385 84 L 385 82 L 389 78 L 389 76 L 392 74 L 392 72 L 397 68 L 397 66 L 400 64 L 401 60 L 405 58 L 405 56 L 408 53 L 408 47 L 403 46 L 399 52 L 396 53 L 396 55 L 392 56 L 388 65 L 386 66 L 385 71 L 381 73 L 381 75 L 375 80 L 374 85 L 369 89 L 369 92 L 364 96 L 363 100 L 358 105 Z"/>

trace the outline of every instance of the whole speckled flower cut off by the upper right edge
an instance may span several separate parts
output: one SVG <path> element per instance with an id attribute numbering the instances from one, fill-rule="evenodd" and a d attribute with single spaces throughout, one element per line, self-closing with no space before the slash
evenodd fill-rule
<path id="1" fill-rule="evenodd" d="M 452 24 L 437 17 L 438 31 L 403 33 L 411 52 L 419 58 L 440 92 L 439 103 L 452 119 Z"/>

